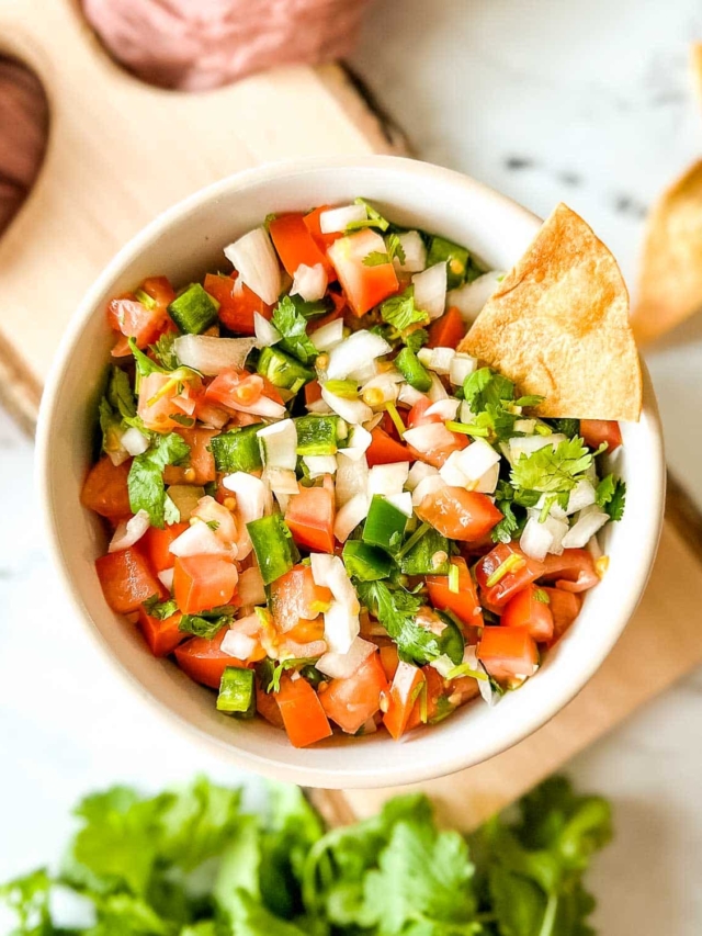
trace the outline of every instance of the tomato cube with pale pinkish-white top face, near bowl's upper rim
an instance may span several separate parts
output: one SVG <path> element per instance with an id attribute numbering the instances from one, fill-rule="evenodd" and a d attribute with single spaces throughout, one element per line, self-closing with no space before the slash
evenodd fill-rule
<path id="1" fill-rule="evenodd" d="M 370 229 L 340 238 L 328 251 L 351 311 L 358 316 L 393 295 L 399 286 L 392 262 L 377 267 L 363 262 L 373 251 L 386 252 L 385 241 Z"/>

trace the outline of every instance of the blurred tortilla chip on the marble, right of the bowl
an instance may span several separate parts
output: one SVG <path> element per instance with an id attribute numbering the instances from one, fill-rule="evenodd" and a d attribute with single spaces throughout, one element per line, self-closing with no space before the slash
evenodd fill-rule
<path id="1" fill-rule="evenodd" d="M 702 161 L 648 216 L 632 326 L 642 343 L 702 309 Z"/>

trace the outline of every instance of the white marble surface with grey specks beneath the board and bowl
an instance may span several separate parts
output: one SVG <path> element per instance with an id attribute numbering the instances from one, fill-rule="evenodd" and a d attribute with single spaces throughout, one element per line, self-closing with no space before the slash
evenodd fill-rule
<path id="1" fill-rule="evenodd" d="M 695 37 L 693 0 L 376 0 L 354 65 L 418 155 L 541 214 L 566 200 L 633 282 L 644 210 L 702 153 L 687 74 Z M 702 505 L 702 343 L 649 365 L 670 464 Z M 3 879 L 56 854 L 84 791 L 197 770 L 242 778 L 125 691 L 73 627 L 38 533 L 32 447 L 1 413 L 0 517 Z M 591 878 L 605 936 L 702 932 L 701 726 L 698 673 L 569 767 L 615 807 L 615 843 Z"/>

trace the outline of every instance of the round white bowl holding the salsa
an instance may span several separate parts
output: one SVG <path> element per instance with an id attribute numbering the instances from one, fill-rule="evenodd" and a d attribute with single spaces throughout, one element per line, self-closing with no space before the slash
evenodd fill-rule
<path id="1" fill-rule="evenodd" d="M 218 745 L 238 765 L 327 788 L 409 783 L 450 774 L 492 757 L 551 719 L 597 670 L 638 602 L 656 552 L 665 488 L 661 431 L 646 375 L 641 421 L 622 427 L 624 446 L 612 459 L 626 480 L 626 511 L 622 522 L 608 529 L 610 568 L 587 595 L 578 620 L 537 675 L 495 709 L 469 704 L 401 744 L 382 732 L 296 749 L 283 732 L 262 720 L 241 722 L 218 713 L 211 690 L 192 683 L 170 661 L 155 659 L 136 628 L 105 604 L 94 571 L 105 533 L 100 518 L 79 503 L 112 341 L 105 302 L 147 275 L 166 274 L 181 284 L 216 269 L 223 246 L 269 212 L 339 204 L 356 195 L 370 199 L 394 221 L 465 244 L 495 269 L 509 269 L 541 223 L 464 176 L 394 157 L 299 160 L 225 179 L 157 217 L 90 289 L 56 354 L 38 428 L 38 483 L 54 557 L 78 620 L 98 638 L 115 667 L 162 711 Z"/>

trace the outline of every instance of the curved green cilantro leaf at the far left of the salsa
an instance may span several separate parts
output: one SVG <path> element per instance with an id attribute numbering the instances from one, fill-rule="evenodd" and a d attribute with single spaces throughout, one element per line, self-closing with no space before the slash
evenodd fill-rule
<path id="1" fill-rule="evenodd" d="M 162 528 L 165 522 L 180 520 L 180 514 L 166 495 L 163 469 L 166 465 L 182 464 L 189 454 L 188 442 L 177 432 L 169 432 L 168 436 L 159 436 L 144 454 L 134 459 L 127 477 L 133 514 L 146 510 L 151 526 L 159 528 Z"/>

